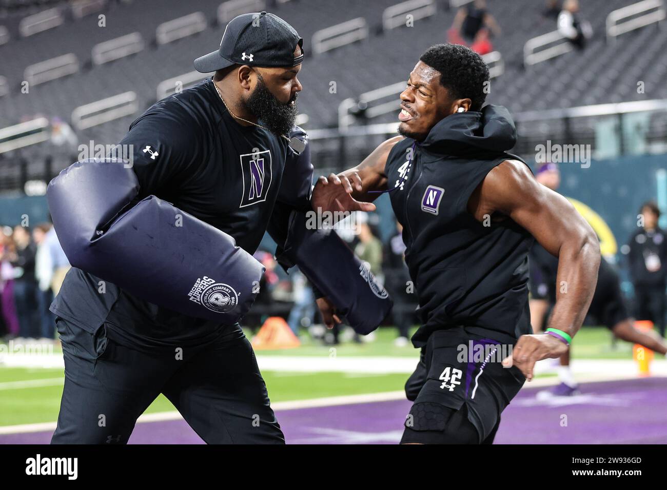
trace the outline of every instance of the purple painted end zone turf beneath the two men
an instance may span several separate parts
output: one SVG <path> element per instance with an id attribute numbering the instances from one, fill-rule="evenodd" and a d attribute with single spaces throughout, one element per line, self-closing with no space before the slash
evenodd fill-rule
<path id="1" fill-rule="evenodd" d="M 667 378 L 588 383 L 546 400 L 525 388 L 502 415 L 497 444 L 667 443 Z M 287 443 L 396 444 L 410 401 L 276 411 Z M 50 432 L 0 435 L 1 444 L 48 443 Z M 139 423 L 134 444 L 201 444 L 183 420 Z"/>

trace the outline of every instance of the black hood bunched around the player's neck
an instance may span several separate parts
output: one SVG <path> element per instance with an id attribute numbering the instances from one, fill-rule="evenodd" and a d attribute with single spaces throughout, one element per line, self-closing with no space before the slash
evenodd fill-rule
<path id="1" fill-rule="evenodd" d="M 514 147 L 516 127 L 502 105 L 486 105 L 482 111 L 454 113 L 442 119 L 420 144 L 426 151 L 445 155 L 502 153 Z"/>

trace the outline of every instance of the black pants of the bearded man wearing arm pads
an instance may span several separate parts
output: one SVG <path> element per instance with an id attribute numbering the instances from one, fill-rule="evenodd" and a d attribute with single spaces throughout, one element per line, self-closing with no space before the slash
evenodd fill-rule
<path id="1" fill-rule="evenodd" d="M 210 345 L 149 355 L 56 320 L 65 388 L 52 444 L 127 443 L 163 393 L 207 443 L 285 442 L 250 343 L 228 327 Z M 165 441 L 167 442 L 167 441 Z"/>

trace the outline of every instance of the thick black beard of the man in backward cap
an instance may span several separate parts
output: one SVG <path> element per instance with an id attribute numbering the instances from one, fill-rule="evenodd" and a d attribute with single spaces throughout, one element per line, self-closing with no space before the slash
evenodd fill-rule
<path id="1" fill-rule="evenodd" d="M 274 135 L 287 135 L 296 121 L 299 111 L 296 104 L 297 94 L 289 99 L 286 104 L 281 103 L 267 89 L 264 79 L 259 75 L 257 87 L 247 101 L 245 107 L 250 113 L 259 119 L 259 123 L 265 126 Z"/>

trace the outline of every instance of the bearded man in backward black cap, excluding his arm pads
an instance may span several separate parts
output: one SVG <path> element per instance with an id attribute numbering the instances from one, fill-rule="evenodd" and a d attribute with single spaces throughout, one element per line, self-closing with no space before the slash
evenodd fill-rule
<path id="1" fill-rule="evenodd" d="M 285 160 L 305 148 L 305 133 L 294 129 L 302 45 L 270 13 L 231 20 L 219 49 L 195 60 L 197 70 L 215 75 L 155 103 L 120 142 L 132 152 L 138 197 L 155 195 L 254 253 Z M 301 187 L 309 194 L 311 180 Z M 183 261 L 215 253 L 202 242 Z M 109 260 L 122 267 L 122 255 Z M 65 357 L 52 443 L 126 443 L 160 393 L 207 443 L 284 443 L 238 323 L 177 313 L 76 267 L 51 311 Z"/>

